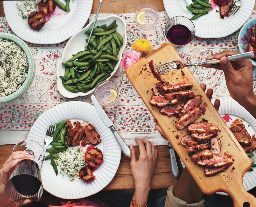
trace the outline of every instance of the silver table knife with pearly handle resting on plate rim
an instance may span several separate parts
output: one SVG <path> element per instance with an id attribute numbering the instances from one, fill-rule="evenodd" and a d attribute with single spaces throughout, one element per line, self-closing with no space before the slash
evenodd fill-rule
<path id="1" fill-rule="evenodd" d="M 119 146 L 121 147 L 121 150 L 123 151 L 123 153 L 126 156 L 131 157 L 130 148 L 127 146 L 127 144 L 125 143 L 123 138 L 118 134 L 117 130 L 115 129 L 114 124 L 110 121 L 109 117 L 107 117 L 107 114 L 102 109 L 101 105 L 99 105 L 99 102 L 96 100 L 94 95 L 91 96 L 91 101 L 93 102 L 93 105 L 94 105 L 95 109 L 97 110 L 99 116 L 101 117 L 102 121 L 105 123 L 105 125 L 107 127 L 109 127 L 111 129 L 111 131 L 114 134 L 114 136 L 115 136 Z"/>

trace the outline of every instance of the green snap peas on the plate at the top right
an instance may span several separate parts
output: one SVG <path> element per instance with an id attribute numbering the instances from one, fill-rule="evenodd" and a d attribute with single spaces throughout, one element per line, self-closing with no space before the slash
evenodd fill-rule
<path id="1" fill-rule="evenodd" d="M 193 0 L 193 4 L 190 4 L 186 8 L 194 14 L 190 20 L 197 19 L 199 16 L 208 14 L 208 11 L 212 10 L 209 0 Z"/>

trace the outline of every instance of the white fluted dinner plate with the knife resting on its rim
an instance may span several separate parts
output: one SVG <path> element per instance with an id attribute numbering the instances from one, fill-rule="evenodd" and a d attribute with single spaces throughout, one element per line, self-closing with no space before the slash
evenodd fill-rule
<path id="1" fill-rule="evenodd" d="M 43 188 L 54 196 L 63 199 L 84 198 L 101 191 L 110 183 L 120 163 L 121 149 L 110 128 L 104 124 L 94 106 L 81 101 L 59 104 L 44 112 L 35 121 L 27 139 L 34 140 L 44 146 L 49 122 L 57 123 L 65 119 L 86 121 L 95 127 L 102 139 L 97 147 L 103 153 L 103 162 L 93 172 L 96 177 L 95 180 L 85 183 L 78 179 L 78 181 L 70 181 L 67 175 L 61 175 L 59 168 L 58 176 L 56 176 L 50 160 L 45 160 L 41 169 Z M 47 152 L 46 155 L 48 155 Z"/>

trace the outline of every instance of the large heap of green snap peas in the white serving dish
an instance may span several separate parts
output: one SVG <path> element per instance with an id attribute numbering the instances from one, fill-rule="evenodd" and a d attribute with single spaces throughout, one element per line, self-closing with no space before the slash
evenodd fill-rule
<path id="1" fill-rule="evenodd" d="M 116 28 L 115 20 L 109 26 L 97 26 L 93 30 L 87 49 L 62 63 L 65 66 L 65 75 L 59 77 L 65 89 L 73 93 L 86 93 L 111 76 L 123 45 L 123 38 Z M 90 32 L 91 30 L 87 30 L 85 34 L 89 35 Z"/>

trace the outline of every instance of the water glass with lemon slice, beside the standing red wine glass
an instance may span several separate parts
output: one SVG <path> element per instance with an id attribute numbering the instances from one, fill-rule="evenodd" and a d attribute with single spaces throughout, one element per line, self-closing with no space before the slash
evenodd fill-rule
<path id="1" fill-rule="evenodd" d="M 137 15 L 141 11 L 145 11 L 145 14 L 144 14 L 145 25 L 142 25 L 137 21 Z M 136 9 L 135 19 L 138 24 L 139 30 L 142 33 L 145 33 L 145 34 L 150 33 L 155 29 L 155 26 L 157 24 L 158 10 L 154 5 L 150 3 L 143 3 L 139 5 L 138 8 Z"/>

